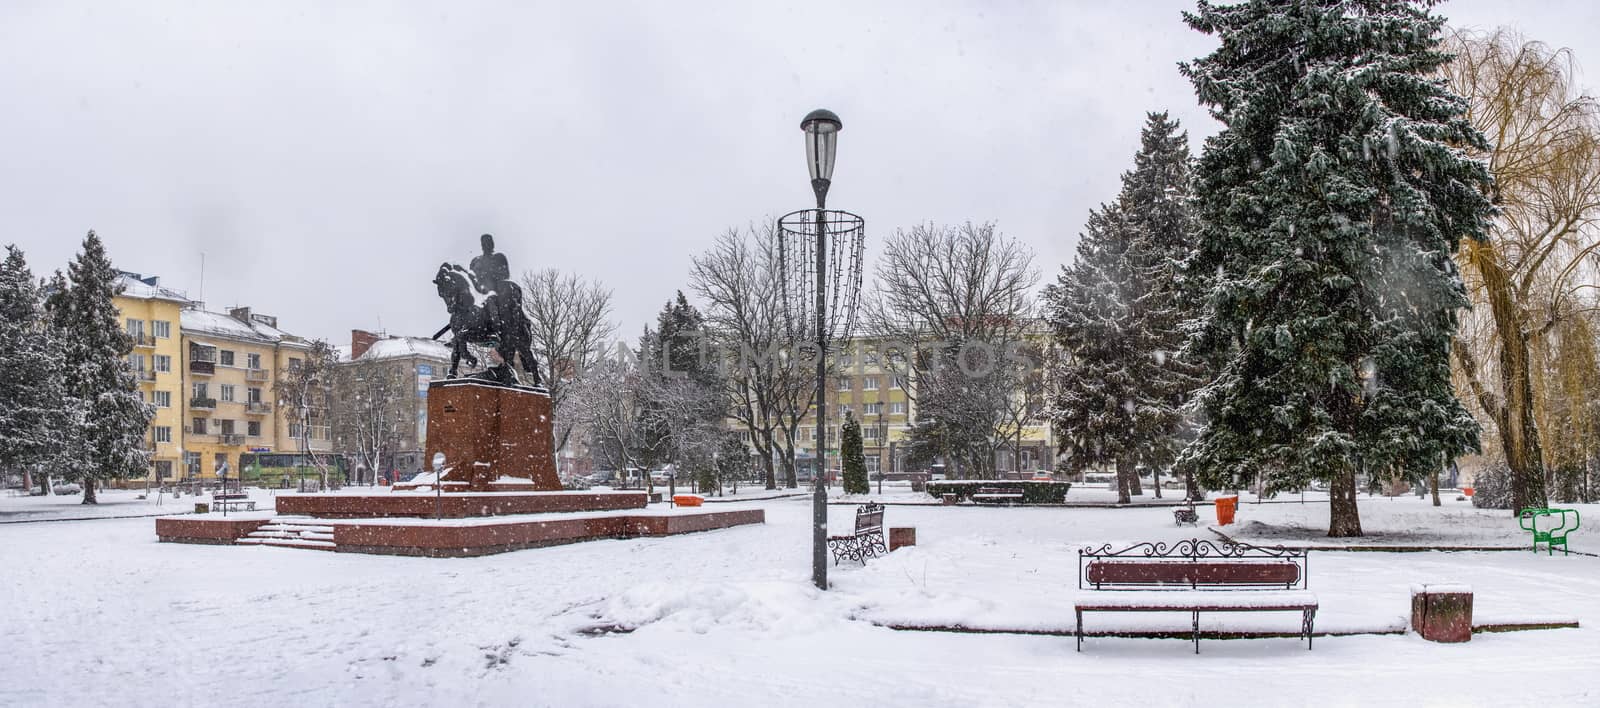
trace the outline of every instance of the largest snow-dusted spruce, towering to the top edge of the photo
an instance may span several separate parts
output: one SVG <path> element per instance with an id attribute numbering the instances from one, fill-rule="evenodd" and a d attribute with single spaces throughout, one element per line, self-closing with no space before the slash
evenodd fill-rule
<path id="1" fill-rule="evenodd" d="M 1437 78 L 1443 18 L 1402 0 L 1202 2 L 1221 46 L 1182 72 L 1224 130 L 1195 171 L 1197 356 L 1222 360 L 1181 458 L 1210 485 L 1330 482 L 1330 537 L 1362 535 L 1357 473 L 1421 479 L 1477 447 L 1448 348 L 1451 255 L 1491 213 L 1466 99 Z"/>

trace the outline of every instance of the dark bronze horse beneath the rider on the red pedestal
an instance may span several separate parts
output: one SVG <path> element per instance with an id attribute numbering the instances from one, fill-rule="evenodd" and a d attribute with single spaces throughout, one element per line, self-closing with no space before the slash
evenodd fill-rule
<path id="1" fill-rule="evenodd" d="M 438 340 L 445 332 L 454 332 L 450 343 L 450 378 L 456 378 L 461 360 L 475 367 L 478 359 L 472 356 L 467 344 L 491 346 L 501 364 L 490 367 L 478 378 L 502 384 L 515 384 L 517 375 L 512 365 L 522 359 L 522 368 L 531 378 L 533 386 L 541 386 L 539 364 L 533 359 L 533 332 L 528 316 L 522 311 L 522 288 L 512 280 L 501 280 L 491 285 L 493 290 L 480 287 L 466 268 L 453 263 L 438 266 L 434 276 L 445 309 L 450 311 L 450 324 L 438 330 Z M 486 295 L 480 295 L 486 290 Z"/>

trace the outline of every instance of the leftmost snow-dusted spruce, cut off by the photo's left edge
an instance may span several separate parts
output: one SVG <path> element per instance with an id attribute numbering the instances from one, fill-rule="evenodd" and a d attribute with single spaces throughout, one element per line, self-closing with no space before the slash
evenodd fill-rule
<path id="1" fill-rule="evenodd" d="M 8 245 L 0 264 L 0 469 L 40 474 L 46 489 L 50 463 L 70 431 L 59 344 L 34 272 Z"/>

